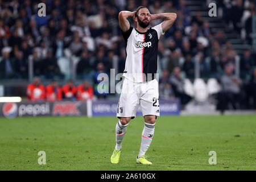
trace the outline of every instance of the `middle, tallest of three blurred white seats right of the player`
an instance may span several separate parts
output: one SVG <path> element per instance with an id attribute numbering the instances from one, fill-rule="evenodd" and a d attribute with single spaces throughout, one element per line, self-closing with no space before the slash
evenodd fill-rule
<path id="1" fill-rule="evenodd" d="M 194 82 L 195 100 L 198 102 L 205 102 L 208 99 L 207 85 L 201 78 L 196 78 Z"/>

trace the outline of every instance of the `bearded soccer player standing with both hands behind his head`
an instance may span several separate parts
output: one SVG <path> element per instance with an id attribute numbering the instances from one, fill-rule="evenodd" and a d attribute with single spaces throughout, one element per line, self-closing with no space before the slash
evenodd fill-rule
<path id="1" fill-rule="evenodd" d="M 126 63 L 123 71 L 123 86 L 118 102 L 115 126 L 116 145 L 111 162 L 117 164 L 121 155 L 122 140 L 130 119 L 136 116 L 138 106 L 144 117 L 141 148 L 137 163 L 150 165 L 145 156 L 155 130 L 155 119 L 159 116 L 157 69 L 158 41 L 174 24 L 175 13 L 150 14 L 147 7 L 139 6 L 134 12 L 121 11 L 118 15 L 119 25 L 126 43 Z M 132 17 L 137 28 L 130 26 L 127 18 Z M 163 22 L 148 29 L 151 20 L 162 19 Z"/>

